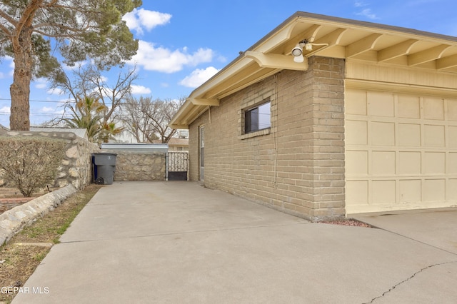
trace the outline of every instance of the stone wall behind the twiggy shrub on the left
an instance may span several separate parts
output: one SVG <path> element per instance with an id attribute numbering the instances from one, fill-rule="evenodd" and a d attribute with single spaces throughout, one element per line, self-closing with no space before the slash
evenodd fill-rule
<path id="1" fill-rule="evenodd" d="M 75 188 L 81 189 L 91 183 L 91 153 L 99 150 L 96 144 L 90 143 L 71 132 L 9 131 L 2 133 L 2 136 L 36 136 L 66 141 L 65 156 L 61 161 L 61 165 L 57 168 L 56 180 L 53 186 L 62 188 L 73 185 Z"/>

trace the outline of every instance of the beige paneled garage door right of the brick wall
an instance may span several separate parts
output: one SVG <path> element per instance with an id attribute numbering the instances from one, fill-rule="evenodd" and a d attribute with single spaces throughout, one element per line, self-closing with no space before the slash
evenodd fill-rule
<path id="1" fill-rule="evenodd" d="M 457 99 L 346 90 L 346 213 L 457 205 Z"/>

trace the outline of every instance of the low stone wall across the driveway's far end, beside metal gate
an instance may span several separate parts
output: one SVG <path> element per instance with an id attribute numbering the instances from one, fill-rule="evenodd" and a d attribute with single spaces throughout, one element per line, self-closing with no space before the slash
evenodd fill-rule
<path id="1" fill-rule="evenodd" d="M 166 153 L 109 149 L 101 152 L 117 154 L 114 181 L 165 181 Z"/>

